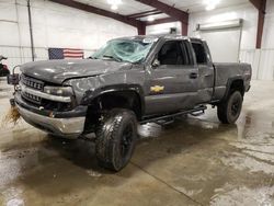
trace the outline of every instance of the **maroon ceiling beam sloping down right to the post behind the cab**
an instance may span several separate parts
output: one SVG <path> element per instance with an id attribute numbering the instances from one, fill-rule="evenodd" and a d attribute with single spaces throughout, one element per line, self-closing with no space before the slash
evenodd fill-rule
<path id="1" fill-rule="evenodd" d="M 182 10 L 179 10 L 174 7 L 171 7 L 167 3 L 163 3 L 163 2 L 158 1 L 158 0 L 136 0 L 136 1 L 141 2 L 146 5 L 150 5 L 152 8 L 156 8 L 159 11 L 176 19 L 178 21 L 181 21 L 184 24 L 189 24 L 189 13 L 186 13 Z"/>

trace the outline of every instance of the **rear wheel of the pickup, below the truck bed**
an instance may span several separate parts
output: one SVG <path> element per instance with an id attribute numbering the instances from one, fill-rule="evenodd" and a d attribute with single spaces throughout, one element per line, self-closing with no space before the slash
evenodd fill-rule
<path id="1" fill-rule="evenodd" d="M 228 99 L 217 106 L 218 118 L 224 124 L 232 124 L 240 116 L 242 107 L 242 94 L 232 92 Z"/>

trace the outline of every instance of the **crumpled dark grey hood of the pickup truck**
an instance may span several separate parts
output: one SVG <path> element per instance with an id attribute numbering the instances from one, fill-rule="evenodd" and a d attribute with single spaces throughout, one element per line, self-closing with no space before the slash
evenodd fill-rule
<path id="1" fill-rule="evenodd" d="M 39 80 L 61 84 L 67 79 L 90 77 L 130 69 L 129 62 L 100 59 L 66 59 L 27 62 L 21 66 L 22 73 Z"/>

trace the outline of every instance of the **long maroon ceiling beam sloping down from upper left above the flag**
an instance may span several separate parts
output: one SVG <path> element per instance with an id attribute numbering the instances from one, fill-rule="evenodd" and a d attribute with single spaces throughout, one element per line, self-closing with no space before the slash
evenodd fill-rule
<path id="1" fill-rule="evenodd" d="M 70 8 L 79 9 L 79 10 L 82 10 L 82 11 L 87 11 L 87 12 L 90 12 L 90 13 L 95 13 L 95 14 L 99 14 L 99 15 L 111 18 L 111 19 L 117 20 L 119 22 L 123 22 L 125 24 L 129 24 L 132 26 L 135 26 L 137 28 L 142 26 L 142 24 L 144 24 L 144 22 L 135 20 L 133 18 L 121 15 L 118 13 L 110 12 L 110 11 L 106 11 L 106 10 L 103 10 L 103 9 L 100 9 L 100 8 L 95 8 L 95 7 L 85 4 L 85 3 L 81 3 L 81 2 L 78 2 L 78 1 L 73 1 L 73 0 L 49 0 L 49 1 L 62 4 L 62 5 L 67 5 L 67 7 L 70 7 Z"/>

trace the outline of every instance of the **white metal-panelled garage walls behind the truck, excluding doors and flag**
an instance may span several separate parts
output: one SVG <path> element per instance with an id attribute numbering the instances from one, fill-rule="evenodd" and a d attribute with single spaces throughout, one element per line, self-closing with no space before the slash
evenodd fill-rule
<path id="1" fill-rule="evenodd" d="M 130 25 L 46 0 L 32 0 L 36 60 L 47 59 L 48 47 L 84 49 L 88 57 L 107 39 L 136 35 Z M 254 79 L 274 79 L 274 1 L 267 0 L 263 49 L 255 49 L 258 12 L 251 3 L 196 12 L 190 15 L 189 35 L 196 36 L 196 24 L 243 19 L 240 60 L 252 65 Z M 0 0 L 0 54 L 9 57 L 9 67 L 31 60 L 26 0 Z M 181 24 L 147 26 L 147 33 L 167 33 Z"/>

